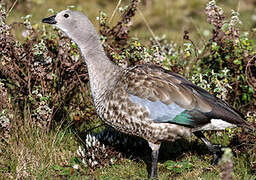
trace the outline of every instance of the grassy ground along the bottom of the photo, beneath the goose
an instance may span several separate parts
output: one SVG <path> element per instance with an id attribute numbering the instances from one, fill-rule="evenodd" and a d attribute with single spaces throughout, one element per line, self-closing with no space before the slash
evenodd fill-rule
<path id="1" fill-rule="evenodd" d="M 17 124 L 16 124 L 17 125 Z M 2 179 L 146 179 L 150 154 L 122 158 L 113 165 L 85 167 L 77 160 L 78 140 L 70 128 L 56 127 L 45 132 L 25 124 L 11 132 L 8 142 L 1 143 L 0 177 Z M 213 136 L 213 143 L 229 144 L 227 132 Z M 145 147 L 147 149 L 148 147 Z M 138 149 L 138 151 L 145 151 Z M 255 155 L 239 153 L 233 157 L 234 179 L 253 179 L 250 163 Z M 212 156 L 205 146 L 192 138 L 190 141 L 164 143 L 158 163 L 159 179 L 213 179 L 221 177 L 221 166 L 210 165 Z M 78 164 L 79 169 L 73 165 Z M 185 166 L 184 166 L 185 164 Z"/>

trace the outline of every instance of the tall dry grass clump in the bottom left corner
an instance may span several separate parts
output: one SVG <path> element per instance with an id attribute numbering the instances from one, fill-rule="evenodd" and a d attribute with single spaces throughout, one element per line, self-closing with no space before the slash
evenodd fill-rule
<path id="1" fill-rule="evenodd" d="M 74 134 L 63 127 L 47 133 L 24 121 L 23 125 L 13 123 L 11 137 L 1 143 L 1 178 L 54 176 L 53 165 L 68 165 L 75 155 Z"/>

